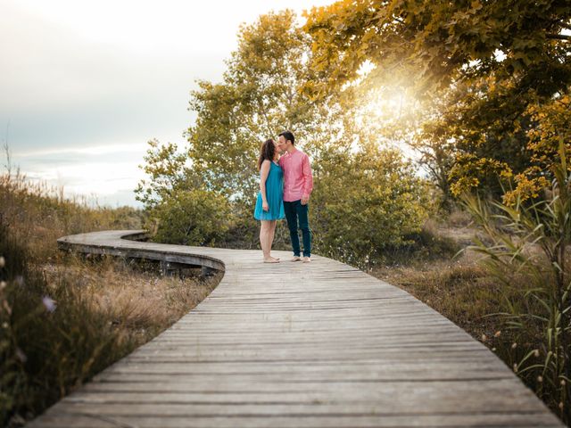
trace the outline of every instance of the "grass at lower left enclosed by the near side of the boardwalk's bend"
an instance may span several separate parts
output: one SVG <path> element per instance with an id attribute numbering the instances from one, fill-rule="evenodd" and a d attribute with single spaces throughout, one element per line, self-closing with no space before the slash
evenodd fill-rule
<path id="1" fill-rule="evenodd" d="M 21 426 L 193 309 L 221 274 L 160 276 L 110 257 L 29 266 L 0 302 L 3 424 Z M 44 299 L 54 304 L 49 309 Z M 2 311 L 0 311 L 2 312 Z M 5 328 L 4 328 L 5 324 Z"/>

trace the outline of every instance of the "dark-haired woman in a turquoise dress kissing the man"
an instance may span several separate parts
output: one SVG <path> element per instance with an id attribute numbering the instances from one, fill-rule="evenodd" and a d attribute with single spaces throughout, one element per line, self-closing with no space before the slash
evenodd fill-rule
<path id="1" fill-rule="evenodd" d="M 271 244 L 274 241 L 277 220 L 285 218 L 284 212 L 284 171 L 277 164 L 277 144 L 271 138 L 261 144 L 258 169 L 260 170 L 260 193 L 256 201 L 253 217 L 261 221 L 260 245 L 264 263 L 278 263 L 271 257 Z"/>

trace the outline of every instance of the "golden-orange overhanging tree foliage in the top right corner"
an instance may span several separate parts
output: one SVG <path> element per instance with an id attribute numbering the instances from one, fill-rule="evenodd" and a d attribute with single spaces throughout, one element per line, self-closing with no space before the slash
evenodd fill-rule
<path id="1" fill-rule="evenodd" d="M 570 20 L 568 2 L 549 0 L 362 0 L 314 8 L 305 29 L 319 78 L 306 92 L 319 98 L 357 80 L 368 87 L 413 81 L 427 110 L 413 146 L 445 195 L 477 188 L 499 197 L 501 180 L 516 177 L 517 193 L 533 197 L 548 172 L 535 164 L 534 131 L 566 114 L 543 106 L 568 105 Z M 373 69 L 363 78 L 367 63 Z M 555 152 L 540 156 L 557 162 Z"/>

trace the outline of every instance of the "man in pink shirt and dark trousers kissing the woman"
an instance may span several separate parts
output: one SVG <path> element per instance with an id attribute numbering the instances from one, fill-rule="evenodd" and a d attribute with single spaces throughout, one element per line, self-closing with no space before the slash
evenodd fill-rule
<path id="1" fill-rule="evenodd" d="M 310 158 L 295 148 L 294 134 L 284 131 L 277 137 L 277 146 L 285 154 L 279 159 L 279 166 L 284 170 L 284 210 L 289 235 L 294 247 L 292 261 L 311 261 L 311 229 L 308 218 L 313 177 L 311 176 Z M 300 238 L 297 235 L 302 229 L 303 259 L 300 251 Z"/>

